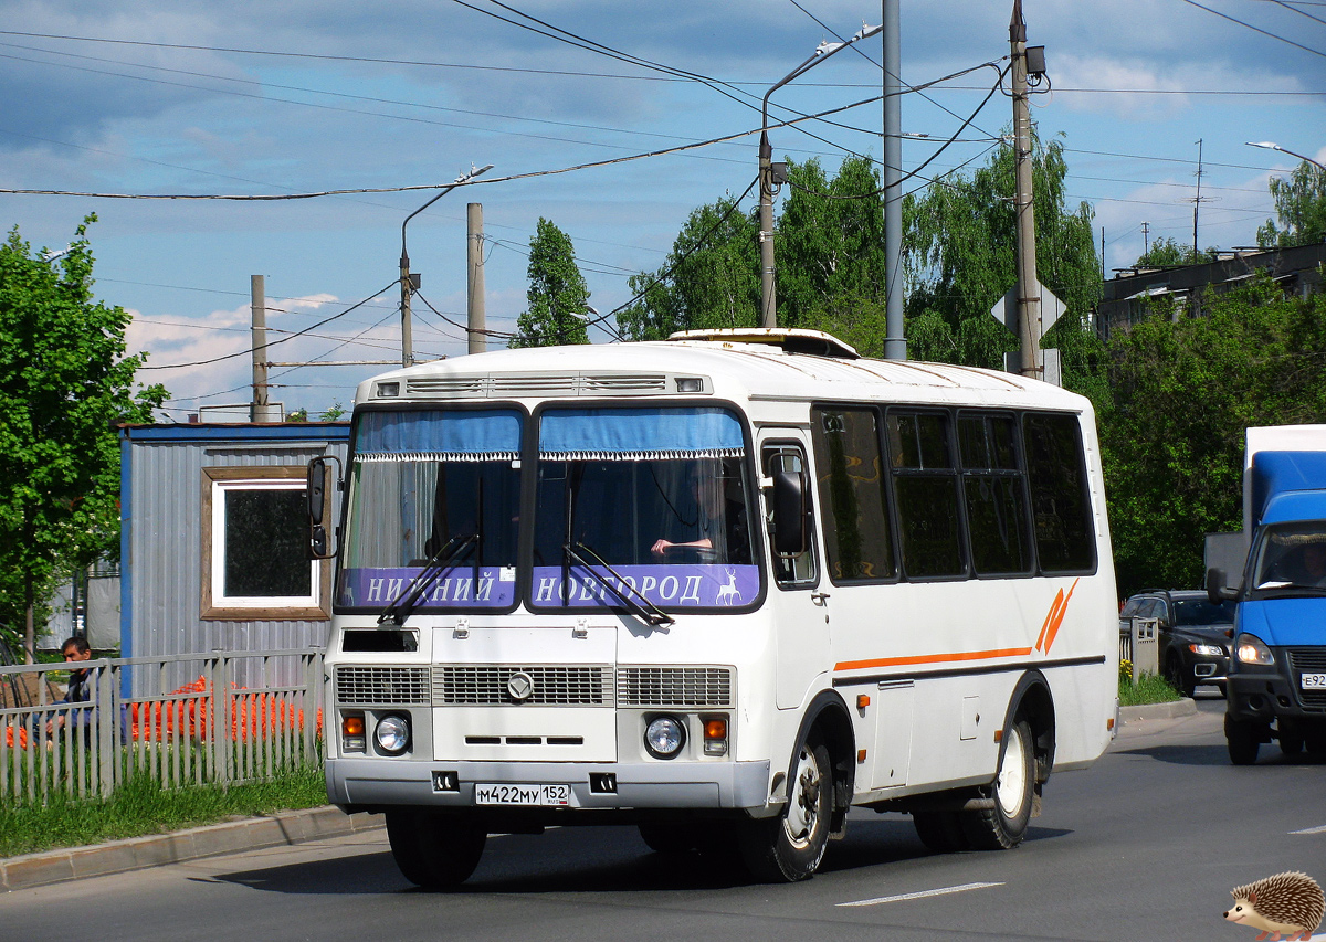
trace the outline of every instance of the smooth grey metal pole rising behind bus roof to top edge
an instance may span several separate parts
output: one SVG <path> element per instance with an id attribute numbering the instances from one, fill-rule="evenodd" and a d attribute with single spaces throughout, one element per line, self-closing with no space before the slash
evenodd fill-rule
<path id="1" fill-rule="evenodd" d="M 884 359 L 907 359 L 903 333 L 903 79 L 899 0 L 883 0 L 884 28 Z"/>

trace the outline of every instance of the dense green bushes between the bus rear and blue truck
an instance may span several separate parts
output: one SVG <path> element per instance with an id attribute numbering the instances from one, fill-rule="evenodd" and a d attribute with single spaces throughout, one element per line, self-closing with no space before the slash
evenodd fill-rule
<path id="1" fill-rule="evenodd" d="M 1094 396 L 1123 595 L 1201 584 L 1205 534 L 1242 526 L 1249 425 L 1326 421 L 1326 295 L 1260 277 L 1203 310 L 1115 333 Z"/>

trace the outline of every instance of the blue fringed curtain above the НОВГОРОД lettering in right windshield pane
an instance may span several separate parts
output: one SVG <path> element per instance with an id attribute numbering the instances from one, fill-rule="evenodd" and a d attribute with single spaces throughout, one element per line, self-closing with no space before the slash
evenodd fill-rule
<path id="1" fill-rule="evenodd" d="M 549 409 L 540 421 L 545 460 L 729 458 L 743 446 L 741 423 L 721 408 Z"/>

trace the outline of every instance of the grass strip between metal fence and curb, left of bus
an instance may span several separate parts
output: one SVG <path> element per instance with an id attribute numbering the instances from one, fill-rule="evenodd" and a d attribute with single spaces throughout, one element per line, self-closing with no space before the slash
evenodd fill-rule
<path id="1" fill-rule="evenodd" d="M 321 766 L 282 772 L 272 782 L 162 788 L 141 775 L 102 800 L 52 795 L 44 807 L 0 806 L 0 857 L 57 847 L 84 847 L 326 804 Z"/>

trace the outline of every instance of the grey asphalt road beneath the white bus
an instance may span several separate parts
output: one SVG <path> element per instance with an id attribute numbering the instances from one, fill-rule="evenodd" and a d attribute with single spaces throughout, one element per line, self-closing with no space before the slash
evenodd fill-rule
<path id="1" fill-rule="evenodd" d="M 1326 884 L 1326 760 L 1264 746 L 1233 767 L 1223 709 L 1199 690 L 1197 715 L 1126 727 L 1050 779 L 1008 852 L 934 855 L 910 817 L 854 812 L 814 880 L 766 886 L 630 828 L 565 828 L 493 837 L 460 892 L 430 894 L 375 831 L 16 890 L 0 939 L 1252 939 L 1221 919 L 1233 886 Z"/>

